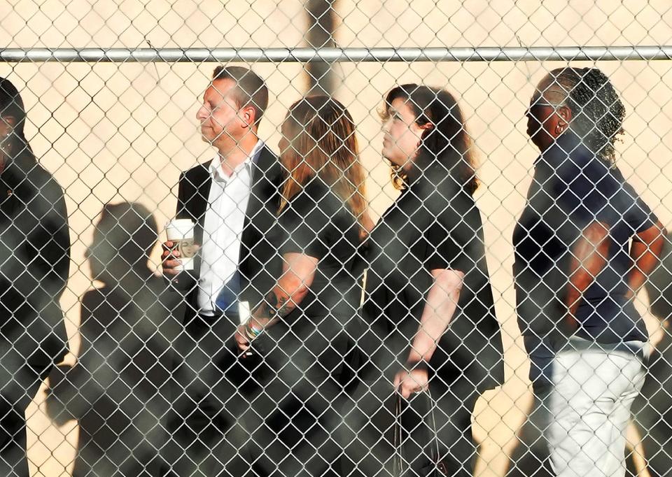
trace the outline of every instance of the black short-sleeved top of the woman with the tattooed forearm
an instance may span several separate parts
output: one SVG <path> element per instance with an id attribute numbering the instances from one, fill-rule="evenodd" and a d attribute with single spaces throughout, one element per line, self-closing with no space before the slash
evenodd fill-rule
<path id="1" fill-rule="evenodd" d="M 344 330 L 356 318 L 362 297 L 358 221 L 331 187 L 314 178 L 292 197 L 278 225 L 280 252 L 314 257 L 318 265 L 306 297 L 269 334 L 284 346 L 309 348 L 321 362 L 340 361 L 352 346 Z M 291 344 L 293 339 L 300 341 Z"/>

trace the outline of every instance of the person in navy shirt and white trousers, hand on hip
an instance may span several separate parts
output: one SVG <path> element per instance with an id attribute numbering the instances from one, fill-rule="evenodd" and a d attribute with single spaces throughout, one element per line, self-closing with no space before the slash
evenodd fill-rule
<path id="1" fill-rule="evenodd" d="M 666 231 L 615 166 L 625 107 L 602 71 L 551 71 L 527 117 L 541 155 L 514 229 L 514 278 L 549 464 L 557 476 L 623 476 L 649 348 L 633 297 Z"/>

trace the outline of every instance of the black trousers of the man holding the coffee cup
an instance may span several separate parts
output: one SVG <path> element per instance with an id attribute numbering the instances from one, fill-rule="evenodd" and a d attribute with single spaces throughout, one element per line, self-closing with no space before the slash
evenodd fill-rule
<path id="1" fill-rule="evenodd" d="M 258 355 L 240 359 L 237 317 L 198 315 L 174 346 L 172 409 L 162 449 L 166 476 L 245 476 L 251 472 L 244 424 L 258 393 Z"/>

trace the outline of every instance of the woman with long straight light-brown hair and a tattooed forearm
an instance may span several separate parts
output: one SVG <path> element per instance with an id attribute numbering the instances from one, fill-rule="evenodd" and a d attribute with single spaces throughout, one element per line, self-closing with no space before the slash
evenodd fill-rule
<path id="1" fill-rule="evenodd" d="M 251 457 L 263 475 L 335 476 L 358 337 L 359 248 L 372 228 L 365 171 L 353 119 L 330 97 L 293 104 L 279 148 L 283 273 L 236 336 L 243 355 L 260 353 L 265 363 L 253 375 L 263 397 L 246 420 L 260 451 Z"/>

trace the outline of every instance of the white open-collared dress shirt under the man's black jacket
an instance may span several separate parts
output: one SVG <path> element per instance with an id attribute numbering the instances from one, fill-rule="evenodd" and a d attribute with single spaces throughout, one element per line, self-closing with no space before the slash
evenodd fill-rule
<path id="1" fill-rule="evenodd" d="M 210 164 L 212 185 L 203 225 L 197 298 L 198 312 L 202 315 L 214 315 L 218 294 L 238 268 L 252 187 L 252 164 L 263 146 L 263 141 L 257 141 L 249 157 L 230 177 L 225 176 L 219 155 Z"/>

